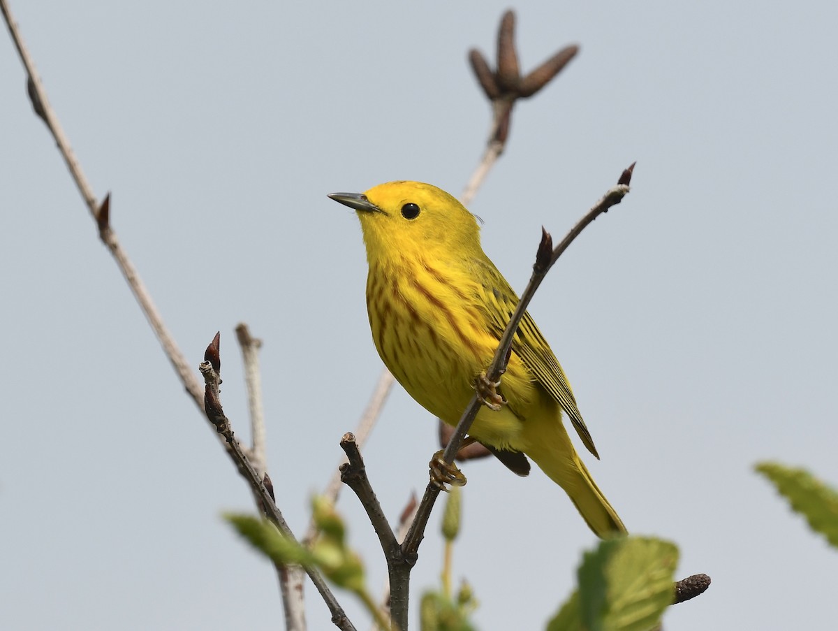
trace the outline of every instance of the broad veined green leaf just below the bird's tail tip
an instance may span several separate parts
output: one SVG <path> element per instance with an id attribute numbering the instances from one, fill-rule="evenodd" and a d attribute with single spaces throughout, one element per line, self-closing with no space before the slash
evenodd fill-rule
<path id="1" fill-rule="evenodd" d="M 675 596 L 678 548 L 644 537 L 604 540 L 586 552 L 579 589 L 548 623 L 549 631 L 648 631 Z"/>

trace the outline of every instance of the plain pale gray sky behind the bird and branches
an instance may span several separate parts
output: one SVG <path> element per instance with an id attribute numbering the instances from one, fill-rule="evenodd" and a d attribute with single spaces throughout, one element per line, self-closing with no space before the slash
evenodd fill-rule
<path id="1" fill-rule="evenodd" d="M 455 195 L 489 107 L 504 3 L 13 2 L 112 224 L 197 366 L 222 334 L 225 409 L 246 431 L 233 328 L 265 345 L 269 467 L 300 531 L 375 384 L 366 264 L 336 190 L 425 180 Z M 838 484 L 835 3 L 521 3 L 530 69 L 582 51 L 515 111 L 471 209 L 519 290 L 638 161 L 630 196 L 575 242 L 530 308 L 566 369 L 631 531 L 713 579 L 667 628 L 825 628 L 838 555 L 753 471 Z M 0 37 L 0 627 L 268 629 L 272 569 L 221 522 L 250 493 L 184 396 L 96 239 L 23 69 Z M 395 520 L 427 482 L 429 415 L 401 390 L 365 458 Z M 455 575 L 479 627 L 542 628 L 595 539 L 541 472 L 465 469 Z M 385 576 L 357 501 L 340 510 Z M 413 593 L 437 586 L 438 514 Z M 356 626 L 365 617 L 342 600 Z M 310 628 L 330 628 L 308 591 Z M 415 610 L 415 608 L 414 608 Z M 415 620 L 416 618 L 414 618 Z"/>

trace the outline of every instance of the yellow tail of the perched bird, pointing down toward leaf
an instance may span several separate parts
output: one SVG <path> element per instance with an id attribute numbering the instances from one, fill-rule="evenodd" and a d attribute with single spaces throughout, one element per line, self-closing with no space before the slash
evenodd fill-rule
<path id="1" fill-rule="evenodd" d="M 549 416 L 549 418 L 547 418 Z M 561 420 L 555 415 L 534 415 L 525 423 L 526 455 L 547 477 L 565 489 L 582 519 L 597 537 L 625 533 L 626 527 L 579 459 Z"/>

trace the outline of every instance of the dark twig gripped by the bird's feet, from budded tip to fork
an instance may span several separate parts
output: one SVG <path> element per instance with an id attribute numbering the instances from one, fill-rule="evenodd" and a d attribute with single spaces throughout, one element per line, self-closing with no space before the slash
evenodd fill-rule
<path id="1" fill-rule="evenodd" d="M 550 234 L 546 231 L 542 232 L 541 244 L 539 245 L 538 253 L 536 254 L 535 264 L 533 265 L 533 273 L 530 276 L 530 282 L 527 284 L 524 293 L 521 295 L 518 306 L 515 309 L 515 313 L 512 315 L 509 325 L 506 326 L 504 335 L 500 338 L 498 350 L 495 351 L 492 362 L 486 370 L 487 378 L 490 381 L 498 381 L 500 375 L 503 374 L 506 368 L 507 362 L 509 362 L 510 352 L 512 349 L 512 337 L 518 329 L 521 318 L 524 317 L 526 308 L 530 304 L 530 300 L 532 300 L 533 295 L 535 295 L 535 289 L 538 289 L 541 281 L 544 279 L 553 264 L 556 263 L 556 260 L 558 260 L 561 256 L 561 253 L 563 253 L 573 240 L 579 236 L 582 230 L 584 230 L 588 224 L 596 219 L 597 216 L 602 215 L 603 212 L 607 212 L 609 208 L 622 201 L 623 197 L 629 193 L 629 182 L 631 180 L 633 169 L 634 164 L 623 171 L 623 174 L 620 175 L 618 180 L 618 185 L 609 189 L 602 199 L 597 201 L 597 203 L 592 206 L 591 210 L 587 211 L 586 215 L 583 216 L 579 222 L 577 222 L 577 225 L 567 233 L 567 236 L 562 239 L 555 249 L 552 248 L 552 238 Z M 475 392 L 468 404 L 468 407 L 463 412 L 463 416 L 459 420 L 457 430 L 454 432 L 451 440 L 448 441 L 448 445 L 442 454 L 442 459 L 448 464 L 453 462 L 454 456 L 456 456 L 457 451 L 463 444 L 463 438 L 465 438 L 465 435 L 468 433 L 468 430 L 471 427 L 474 418 L 477 416 L 481 405 L 482 404 L 478 399 L 478 394 Z M 439 490 L 440 489 L 435 484 L 428 483 L 427 488 L 425 489 L 425 494 L 422 497 L 422 502 L 419 503 L 419 508 L 416 511 L 416 519 L 413 520 L 411 529 L 408 531 L 405 541 L 401 545 L 402 554 L 408 563 L 416 562 L 416 550 L 418 550 L 420 543 L 422 543 L 422 537 L 425 533 L 427 520 L 431 515 L 433 503 L 437 500 Z"/>

